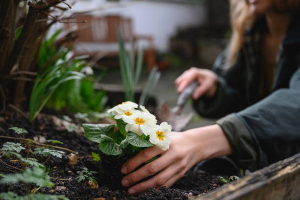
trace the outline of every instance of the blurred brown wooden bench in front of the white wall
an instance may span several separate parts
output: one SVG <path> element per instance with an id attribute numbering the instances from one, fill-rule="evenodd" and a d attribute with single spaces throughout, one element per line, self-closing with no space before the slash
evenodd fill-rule
<path id="1" fill-rule="evenodd" d="M 135 35 L 132 28 L 132 20 L 118 15 L 107 15 L 96 17 L 92 15 L 78 15 L 75 20 L 70 21 L 87 21 L 87 23 L 70 23 L 66 28 L 76 28 L 79 37 L 74 45 L 76 55 L 88 54 L 95 56 L 102 54 L 105 56 L 117 56 L 118 46 L 118 29 L 122 28 L 125 49 L 130 50 L 130 39 L 135 44 L 143 42 L 147 47 L 144 49 L 144 62 L 148 65 L 149 70 L 155 65 L 155 50 L 153 38 L 149 35 Z"/>

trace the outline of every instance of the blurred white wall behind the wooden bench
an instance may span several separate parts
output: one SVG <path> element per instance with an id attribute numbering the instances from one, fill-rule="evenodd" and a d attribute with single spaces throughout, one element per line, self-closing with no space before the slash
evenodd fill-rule
<path id="1" fill-rule="evenodd" d="M 168 49 L 169 38 L 178 27 L 201 25 L 205 21 L 206 11 L 203 1 L 199 3 L 170 3 L 160 1 L 140 1 L 126 3 L 124 7 L 105 0 L 78 0 L 72 11 L 84 11 L 107 6 L 107 9 L 93 12 L 95 15 L 117 14 L 133 20 L 133 31 L 137 35 L 151 35 L 157 50 Z M 114 8 L 109 8 L 109 7 Z"/>

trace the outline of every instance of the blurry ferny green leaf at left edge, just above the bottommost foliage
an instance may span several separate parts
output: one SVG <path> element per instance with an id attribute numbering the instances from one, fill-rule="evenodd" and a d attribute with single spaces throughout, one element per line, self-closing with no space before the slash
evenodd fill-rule
<path id="1" fill-rule="evenodd" d="M 49 187 L 53 186 L 53 183 L 50 181 L 50 176 L 41 168 L 33 167 L 33 170 L 25 169 L 22 174 L 8 174 L 5 177 L 0 179 L 0 183 L 34 183 L 40 187 Z"/>

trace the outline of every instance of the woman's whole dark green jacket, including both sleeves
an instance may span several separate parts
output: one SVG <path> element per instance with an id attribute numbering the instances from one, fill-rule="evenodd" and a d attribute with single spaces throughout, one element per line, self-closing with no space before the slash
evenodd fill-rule
<path id="1" fill-rule="evenodd" d="M 216 59 L 213 98 L 194 101 L 200 115 L 219 118 L 239 167 L 254 171 L 300 152 L 300 15 L 294 15 L 280 44 L 272 93 L 259 95 L 259 43 L 264 18 L 245 34 L 237 63 L 224 70 L 226 50 Z"/>

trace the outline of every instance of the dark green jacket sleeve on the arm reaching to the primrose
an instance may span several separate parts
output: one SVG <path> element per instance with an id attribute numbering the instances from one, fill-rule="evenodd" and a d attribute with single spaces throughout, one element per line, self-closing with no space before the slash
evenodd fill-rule
<path id="1" fill-rule="evenodd" d="M 289 88 L 217 121 L 233 146 L 234 159 L 254 171 L 300 152 L 300 67 Z"/>

